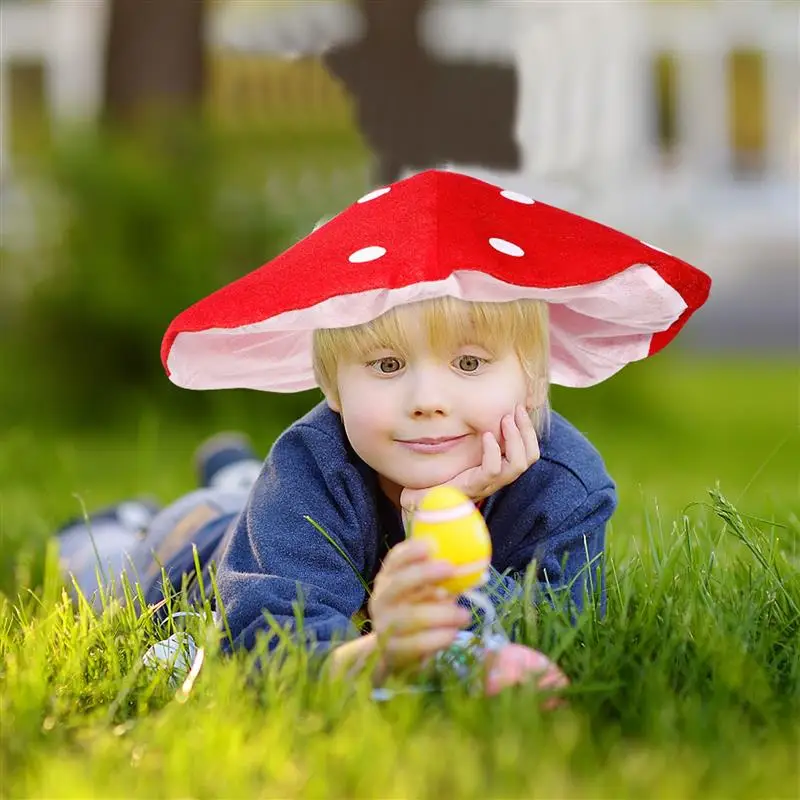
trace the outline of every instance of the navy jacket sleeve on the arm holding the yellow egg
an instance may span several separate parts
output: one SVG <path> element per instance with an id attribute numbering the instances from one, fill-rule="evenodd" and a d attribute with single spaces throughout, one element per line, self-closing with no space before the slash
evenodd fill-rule
<path id="1" fill-rule="evenodd" d="M 357 635 L 352 616 L 373 558 L 362 529 L 370 516 L 363 481 L 337 447 L 302 425 L 275 442 L 220 560 L 231 634 L 224 649 L 251 649 L 271 622 L 315 652 Z"/>

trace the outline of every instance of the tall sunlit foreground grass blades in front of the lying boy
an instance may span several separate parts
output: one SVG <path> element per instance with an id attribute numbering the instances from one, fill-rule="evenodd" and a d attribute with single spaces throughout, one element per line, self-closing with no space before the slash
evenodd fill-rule
<path id="1" fill-rule="evenodd" d="M 702 524 L 659 519 L 669 543 L 612 558 L 604 619 L 590 610 L 571 626 L 549 611 L 525 627 L 573 680 L 569 706 L 549 714 L 531 690 L 376 704 L 366 680 L 315 678 L 291 654 L 254 679 L 254 655 L 218 657 L 200 624 L 211 654 L 176 696 L 141 664 L 169 626 L 125 607 L 73 612 L 49 572 L 39 598 L 3 608 L 7 785 L 38 797 L 793 796 L 800 576 L 769 527 L 724 498 L 713 508 Z"/>

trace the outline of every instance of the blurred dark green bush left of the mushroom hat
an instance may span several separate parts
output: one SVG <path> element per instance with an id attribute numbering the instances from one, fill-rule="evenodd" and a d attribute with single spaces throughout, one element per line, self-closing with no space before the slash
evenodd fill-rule
<path id="1" fill-rule="evenodd" d="M 40 421 L 95 424 L 142 404 L 218 405 L 220 393 L 172 386 L 159 347 L 177 313 L 291 244 L 293 221 L 270 205 L 264 171 L 189 126 L 76 136 L 48 167 L 55 203 L 39 229 L 50 245 L 37 246 L 36 278 L 5 310 L 0 410 L 24 415 L 36 395 L 47 401 Z"/>

